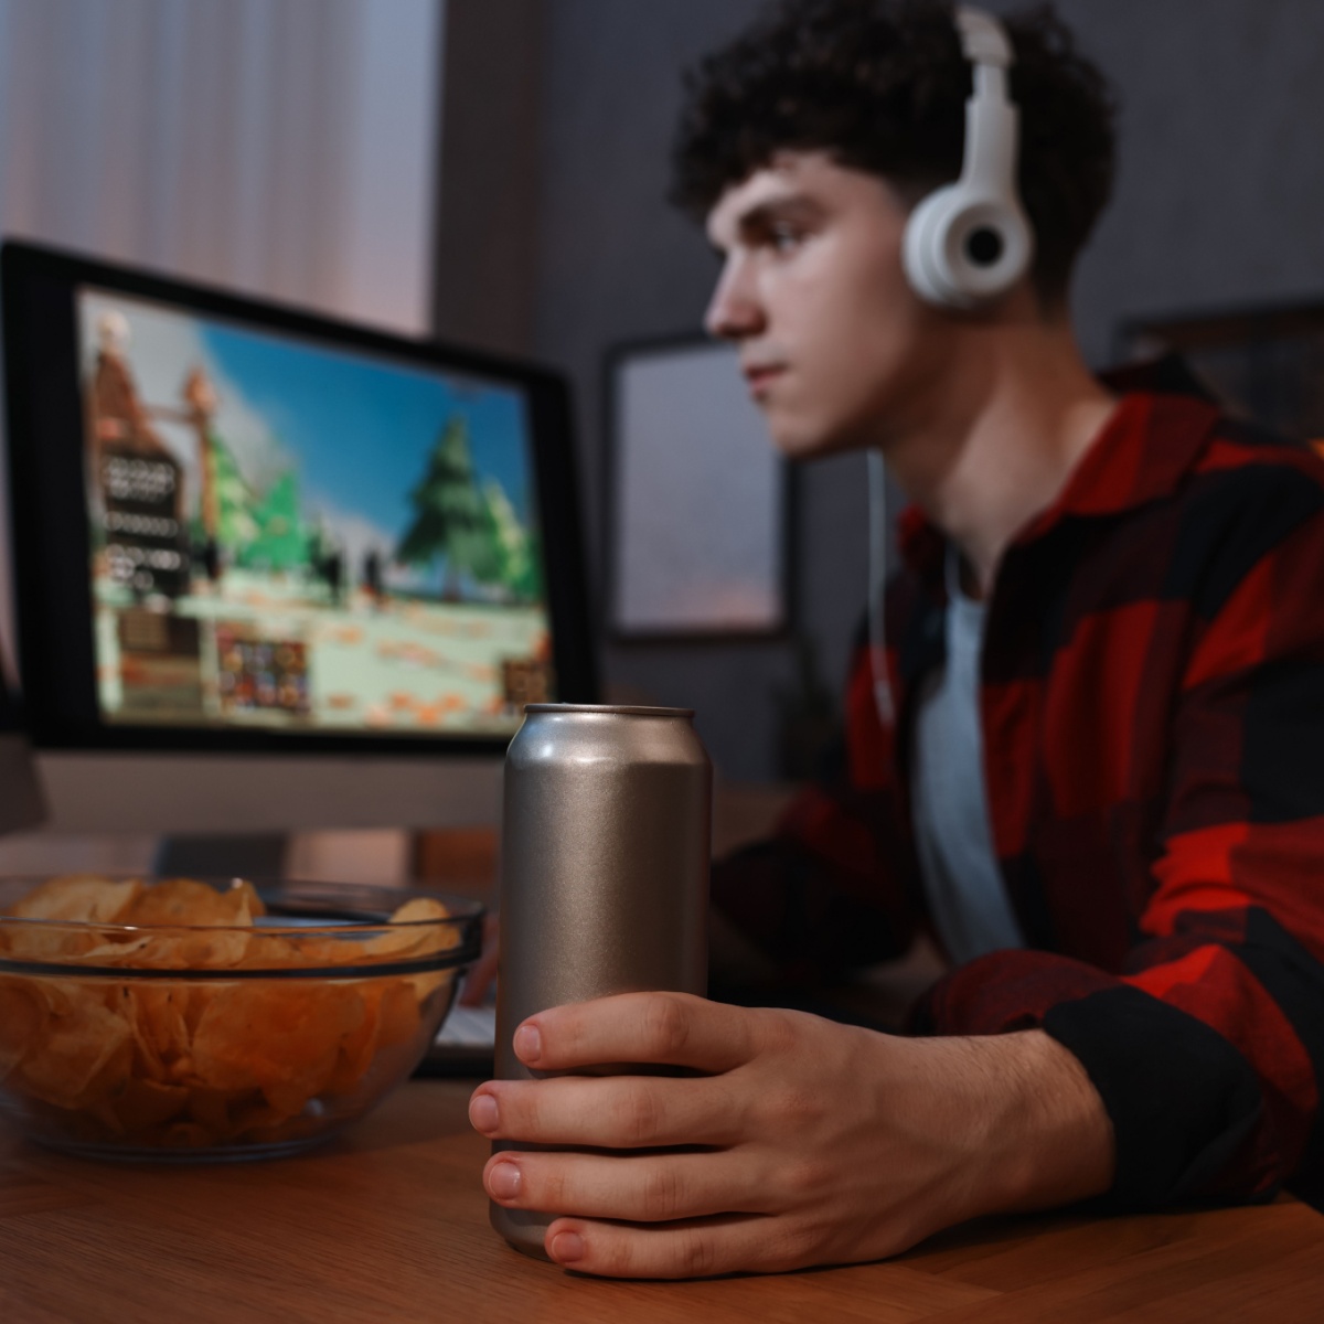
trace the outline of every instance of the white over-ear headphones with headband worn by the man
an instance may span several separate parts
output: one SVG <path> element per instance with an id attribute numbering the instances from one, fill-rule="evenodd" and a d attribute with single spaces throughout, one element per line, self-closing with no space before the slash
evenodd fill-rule
<path id="1" fill-rule="evenodd" d="M 961 50 L 974 66 L 965 103 L 965 159 L 955 184 L 911 213 L 902 263 L 915 293 L 939 308 L 985 307 L 1016 285 L 1034 256 L 1034 232 L 1016 187 L 1019 113 L 1008 97 L 1012 42 L 990 13 L 956 11 Z"/>

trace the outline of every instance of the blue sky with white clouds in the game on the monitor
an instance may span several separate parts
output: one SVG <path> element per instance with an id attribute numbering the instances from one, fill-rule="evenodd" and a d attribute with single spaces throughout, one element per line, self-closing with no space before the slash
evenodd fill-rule
<path id="1" fill-rule="evenodd" d="M 266 491 L 293 469 L 305 518 L 334 539 L 351 565 L 363 564 L 369 551 L 391 557 L 413 519 L 409 493 L 457 413 L 469 422 L 479 482 L 499 482 L 518 516 L 531 523 L 528 422 L 514 388 L 93 287 L 78 293 L 85 380 L 95 369 L 107 315 L 127 320 L 130 371 L 154 426 L 184 469 L 185 493 L 200 491 L 199 449 L 177 412 L 188 373 L 201 367 L 217 392 L 216 434 L 244 477 Z M 393 565 L 387 577 L 416 589 L 430 583 L 420 567 Z"/>

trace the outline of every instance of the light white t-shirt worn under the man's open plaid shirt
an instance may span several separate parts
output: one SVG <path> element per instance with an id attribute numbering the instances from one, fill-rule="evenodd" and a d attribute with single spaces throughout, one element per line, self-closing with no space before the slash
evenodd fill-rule
<path id="1" fill-rule="evenodd" d="M 947 559 L 947 661 L 924 679 L 915 716 L 911 813 L 924 891 L 957 964 L 1025 947 L 993 850 L 984 785 L 980 654 L 984 604 L 961 592 Z"/>

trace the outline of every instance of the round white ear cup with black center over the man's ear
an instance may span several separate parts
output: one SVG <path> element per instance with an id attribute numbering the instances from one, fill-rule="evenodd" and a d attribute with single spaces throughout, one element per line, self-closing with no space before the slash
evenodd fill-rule
<path id="1" fill-rule="evenodd" d="M 1034 236 L 1019 205 L 960 183 L 925 197 L 902 241 L 911 289 L 939 308 L 992 303 L 1021 279 L 1033 257 Z"/>

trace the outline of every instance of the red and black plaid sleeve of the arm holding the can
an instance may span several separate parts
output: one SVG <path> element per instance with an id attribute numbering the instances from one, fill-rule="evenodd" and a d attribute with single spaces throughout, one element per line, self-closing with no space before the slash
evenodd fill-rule
<path id="1" fill-rule="evenodd" d="M 1070 1049 L 1113 1121 L 1117 1207 L 1324 1197 L 1324 486 L 1304 455 L 1263 449 L 1209 448 L 1197 487 L 1215 496 L 1185 516 L 1207 519 L 1202 555 L 1165 571 L 1182 614 L 1156 606 L 1140 632 L 1169 707 L 1152 835 L 1117 843 L 1144 866 L 1119 870 L 1127 949 L 1115 967 L 990 953 L 916 1013 L 948 1034 L 1042 1026 Z"/>

